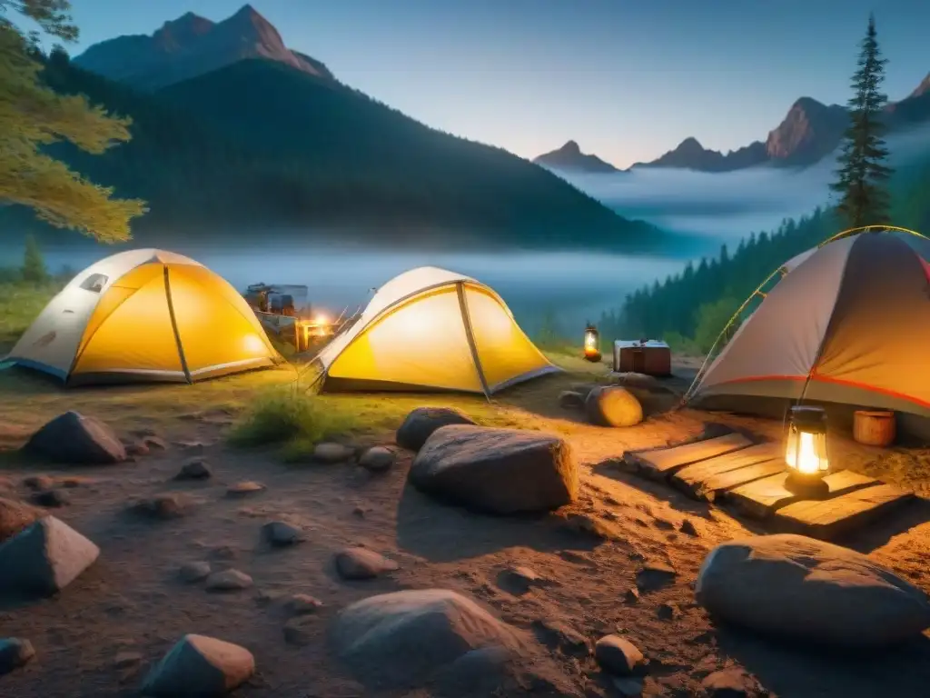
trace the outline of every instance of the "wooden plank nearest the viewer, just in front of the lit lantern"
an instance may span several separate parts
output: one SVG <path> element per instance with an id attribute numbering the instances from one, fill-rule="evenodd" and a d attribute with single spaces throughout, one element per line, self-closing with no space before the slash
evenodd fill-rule
<path id="1" fill-rule="evenodd" d="M 913 496 L 893 485 L 875 485 L 826 501 L 788 504 L 775 513 L 773 522 L 780 529 L 830 540 L 886 515 Z"/>

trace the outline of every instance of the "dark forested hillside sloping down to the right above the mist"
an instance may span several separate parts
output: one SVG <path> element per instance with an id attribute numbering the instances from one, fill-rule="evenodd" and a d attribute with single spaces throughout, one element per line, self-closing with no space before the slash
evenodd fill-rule
<path id="1" fill-rule="evenodd" d="M 140 241 L 352 228 L 385 243 L 401 231 L 422 242 L 443 231 L 442 244 L 627 251 L 662 244 L 657 228 L 621 218 L 521 158 L 272 61 L 243 60 L 144 95 L 53 52 L 44 79 L 133 120 L 132 140 L 106 154 L 68 144 L 54 152 L 90 181 L 148 203 L 150 212 L 133 223 Z M 38 230 L 32 221 L 7 209 L 0 226 Z"/>

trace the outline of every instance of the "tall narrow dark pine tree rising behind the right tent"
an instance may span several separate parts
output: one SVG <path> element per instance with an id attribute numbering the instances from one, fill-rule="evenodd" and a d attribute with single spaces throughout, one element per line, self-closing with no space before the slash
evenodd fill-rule
<path id="1" fill-rule="evenodd" d="M 887 60 L 878 47 L 874 16 L 869 17 L 869 30 L 860 46 L 852 83 L 856 94 L 847 104 L 849 127 L 838 158 L 837 181 L 830 185 L 840 196 L 837 210 L 853 228 L 887 223 L 891 205 L 885 183 L 892 170 L 883 164 L 888 149 L 882 139 L 882 109 L 888 98 L 879 91 Z"/>

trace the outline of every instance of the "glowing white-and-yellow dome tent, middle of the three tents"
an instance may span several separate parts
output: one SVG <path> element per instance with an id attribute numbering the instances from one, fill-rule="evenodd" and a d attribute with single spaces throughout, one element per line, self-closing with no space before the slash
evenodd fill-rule
<path id="1" fill-rule="evenodd" d="M 324 391 L 456 391 L 485 396 L 559 370 L 503 300 L 469 276 L 419 267 L 382 286 L 317 356 Z"/>

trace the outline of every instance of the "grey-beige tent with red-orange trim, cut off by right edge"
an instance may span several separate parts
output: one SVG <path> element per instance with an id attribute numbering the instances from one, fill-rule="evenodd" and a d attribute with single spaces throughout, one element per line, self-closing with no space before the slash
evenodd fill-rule
<path id="1" fill-rule="evenodd" d="M 698 376 L 698 408 L 776 414 L 805 400 L 930 418 L 930 240 L 902 232 L 835 239 L 783 278 Z M 924 336 L 926 335 L 926 336 Z"/>

